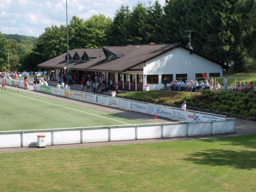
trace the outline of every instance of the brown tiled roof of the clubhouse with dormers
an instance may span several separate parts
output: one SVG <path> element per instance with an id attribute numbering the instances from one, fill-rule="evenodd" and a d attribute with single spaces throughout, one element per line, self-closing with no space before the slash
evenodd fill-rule
<path id="1" fill-rule="evenodd" d="M 82 52 L 84 54 L 84 52 L 86 51 L 90 57 L 90 61 L 70 61 L 69 67 L 71 70 L 121 72 L 121 71 L 128 70 L 131 67 L 134 67 L 145 61 L 148 61 L 149 59 L 154 58 L 157 55 L 160 55 L 176 47 L 182 47 L 183 49 L 187 49 L 190 52 L 193 52 L 204 58 L 207 58 L 204 55 L 201 55 L 180 44 L 131 45 L 126 47 L 103 47 L 105 51 L 112 52 L 116 55 L 122 55 L 122 57 L 111 60 L 111 61 L 105 60 L 105 54 L 102 48 L 70 50 L 71 55 L 72 54 L 74 55 L 76 51 L 79 52 L 79 55 Z M 64 67 L 67 66 L 67 61 L 65 61 L 65 55 L 66 53 L 58 57 L 52 58 L 48 61 L 45 61 L 44 63 L 39 64 L 38 67 L 63 69 Z M 213 61 L 210 58 L 207 58 L 207 59 L 210 61 Z M 213 61 L 213 62 L 220 64 L 216 61 Z M 220 65 L 225 67 L 223 64 L 220 64 Z"/>

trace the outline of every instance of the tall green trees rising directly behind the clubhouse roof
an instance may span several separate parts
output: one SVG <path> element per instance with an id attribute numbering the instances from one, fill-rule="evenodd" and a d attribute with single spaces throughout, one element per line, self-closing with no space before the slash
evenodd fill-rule
<path id="1" fill-rule="evenodd" d="M 186 46 L 188 39 L 183 36 L 189 29 L 195 30 L 195 51 L 234 71 L 256 61 L 255 0 L 166 0 L 164 6 L 156 0 L 132 9 L 122 5 L 113 20 L 103 14 L 87 20 L 73 16 L 68 25 L 69 49 L 151 42 Z M 66 52 L 66 35 L 64 25 L 47 27 L 33 51 L 23 56 L 21 66 L 35 70 L 37 64 Z"/>

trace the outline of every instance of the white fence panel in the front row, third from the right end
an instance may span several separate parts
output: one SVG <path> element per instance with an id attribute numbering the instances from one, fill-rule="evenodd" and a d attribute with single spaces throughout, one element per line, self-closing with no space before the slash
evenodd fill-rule
<path id="1" fill-rule="evenodd" d="M 187 135 L 187 124 L 163 125 L 163 137 L 181 137 Z"/>

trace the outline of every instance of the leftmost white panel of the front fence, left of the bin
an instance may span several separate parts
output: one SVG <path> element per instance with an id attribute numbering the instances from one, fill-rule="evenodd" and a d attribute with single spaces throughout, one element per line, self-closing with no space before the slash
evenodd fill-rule
<path id="1" fill-rule="evenodd" d="M 0 148 L 4 147 L 20 147 L 21 134 L 0 134 Z"/>

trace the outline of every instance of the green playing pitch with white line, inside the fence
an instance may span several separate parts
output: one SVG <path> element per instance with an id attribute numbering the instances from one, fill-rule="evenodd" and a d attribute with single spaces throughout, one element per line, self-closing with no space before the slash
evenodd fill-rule
<path id="1" fill-rule="evenodd" d="M 11 89 L 0 90 L 0 102 L 0 131 L 148 123 Z"/>

